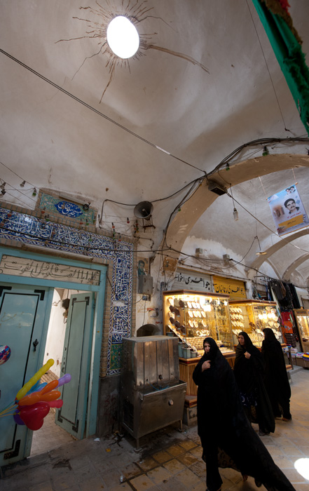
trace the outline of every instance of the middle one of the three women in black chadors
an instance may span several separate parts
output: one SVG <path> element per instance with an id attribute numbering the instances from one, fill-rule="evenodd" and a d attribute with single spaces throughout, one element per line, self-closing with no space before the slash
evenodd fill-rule
<path id="1" fill-rule="evenodd" d="M 259 435 L 275 431 L 275 417 L 264 384 L 264 363 L 247 332 L 238 335 L 234 375 L 240 390 L 242 405 L 250 422 L 259 424 Z"/>

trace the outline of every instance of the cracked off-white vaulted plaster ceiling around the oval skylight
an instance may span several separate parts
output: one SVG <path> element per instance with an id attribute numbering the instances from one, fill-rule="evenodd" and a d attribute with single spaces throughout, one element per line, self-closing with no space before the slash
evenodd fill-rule
<path id="1" fill-rule="evenodd" d="M 289 3 L 307 53 L 308 1 Z M 210 173 L 241 144 L 308 135 L 251 0 L 128 0 L 144 49 L 130 60 L 130 69 L 116 65 L 111 79 L 109 55 L 99 53 L 95 36 L 106 27 L 104 15 L 121 13 L 122 5 L 122 0 L 1 1 L 0 48 L 15 60 L 0 53 L 0 177 L 11 189 L 5 199 L 21 206 L 34 208 L 33 187 L 85 197 L 99 213 L 104 203 L 102 228 L 111 231 L 114 222 L 121 234 L 133 233 L 136 203 L 155 201 L 156 229 L 141 231 L 151 240 L 140 246 L 156 250 L 187 189 L 156 200 Z M 305 148 L 270 147 L 300 154 L 293 160 L 294 168 L 299 166 L 294 174 L 283 170 L 264 176 L 263 185 L 249 180 L 233 189 L 272 230 L 266 195 L 295 179 L 309 212 Z M 252 154 L 261 155 L 262 149 L 257 145 Z M 21 178 L 27 182 L 23 194 Z M 256 222 L 237 208 L 240 220 L 233 222 L 231 199 L 219 197 L 191 234 L 228 245 L 242 257 L 256 236 Z M 257 234 L 262 244 L 273 243 L 272 232 L 260 224 Z M 280 274 L 309 250 L 307 236 L 295 243 L 301 250 L 284 247 L 271 258 Z M 308 260 L 298 272 L 306 282 Z"/>

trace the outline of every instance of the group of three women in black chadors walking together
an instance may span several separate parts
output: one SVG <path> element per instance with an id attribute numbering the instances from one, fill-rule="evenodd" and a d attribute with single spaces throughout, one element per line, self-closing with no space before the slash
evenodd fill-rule
<path id="1" fill-rule="evenodd" d="M 246 332 L 240 332 L 234 370 L 217 342 L 212 337 L 204 340 L 205 354 L 193 380 L 198 385 L 198 434 L 206 462 L 207 491 L 221 490 L 219 467 L 240 471 L 244 480 L 252 476 L 256 486 L 263 484 L 268 491 L 295 491 L 251 424 L 259 424 L 262 436 L 275 431 L 275 417 L 282 414 L 282 419 L 291 419 L 282 347 L 271 329 L 265 329 L 264 335 L 261 352 Z M 279 368 L 283 365 L 284 372 Z M 274 382 L 278 372 L 282 380 Z"/>

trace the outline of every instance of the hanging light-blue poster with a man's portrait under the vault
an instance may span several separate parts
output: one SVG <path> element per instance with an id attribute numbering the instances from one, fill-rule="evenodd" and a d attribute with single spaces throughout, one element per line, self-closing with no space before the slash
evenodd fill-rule
<path id="1" fill-rule="evenodd" d="M 267 200 L 278 235 L 289 234 L 308 226 L 308 215 L 303 208 L 296 184 L 291 184 Z"/>

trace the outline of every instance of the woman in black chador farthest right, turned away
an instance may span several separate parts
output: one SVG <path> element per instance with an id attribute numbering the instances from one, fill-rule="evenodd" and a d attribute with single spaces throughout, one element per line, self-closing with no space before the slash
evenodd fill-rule
<path id="1" fill-rule="evenodd" d="M 289 400 L 291 387 L 287 378 L 282 347 L 272 329 L 263 330 L 265 339 L 262 343 L 262 355 L 265 362 L 265 386 L 273 408 L 273 415 L 284 421 L 291 419 Z"/>

